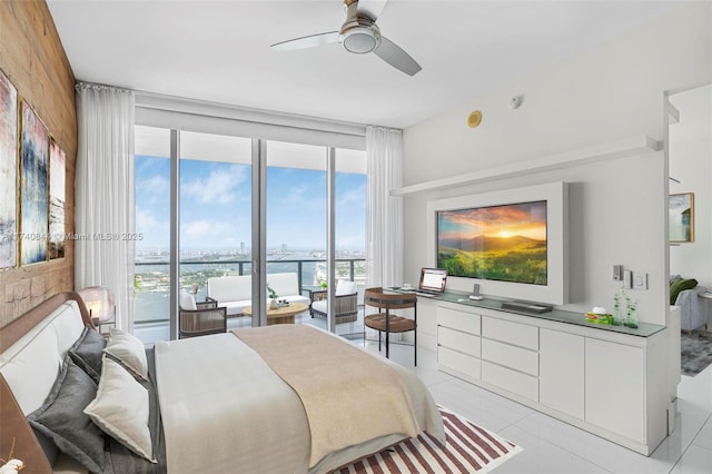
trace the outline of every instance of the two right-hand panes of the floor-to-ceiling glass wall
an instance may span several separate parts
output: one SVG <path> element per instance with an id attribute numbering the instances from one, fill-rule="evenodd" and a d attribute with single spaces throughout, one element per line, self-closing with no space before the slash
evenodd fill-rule
<path id="1" fill-rule="evenodd" d="M 267 142 L 267 273 L 297 271 L 305 293 L 327 285 L 327 157 L 326 147 Z M 337 149 L 335 165 L 335 279 L 356 282 L 363 302 L 366 154 Z M 336 333 L 360 337 L 362 313 L 339 319 Z M 310 315 L 299 320 L 327 327 Z"/>

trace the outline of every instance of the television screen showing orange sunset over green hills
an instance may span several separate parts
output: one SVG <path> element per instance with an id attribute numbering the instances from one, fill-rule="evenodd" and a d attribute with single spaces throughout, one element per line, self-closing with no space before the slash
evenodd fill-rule
<path id="1" fill-rule="evenodd" d="M 453 276 L 546 285 L 546 201 L 438 211 L 437 266 Z"/>

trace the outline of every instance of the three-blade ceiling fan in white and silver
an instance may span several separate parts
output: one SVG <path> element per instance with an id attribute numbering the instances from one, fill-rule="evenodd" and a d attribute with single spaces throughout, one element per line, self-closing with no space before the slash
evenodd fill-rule
<path id="1" fill-rule="evenodd" d="M 421 65 L 399 46 L 382 36 L 376 24 L 385 4 L 384 0 L 344 0 L 346 21 L 338 31 L 295 38 L 275 43 L 271 48 L 277 51 L 289 51 L 338 42 L 346 51 L 356 55 L 373 51 L 394 68 L 415 76 L 422 69 Z"/>

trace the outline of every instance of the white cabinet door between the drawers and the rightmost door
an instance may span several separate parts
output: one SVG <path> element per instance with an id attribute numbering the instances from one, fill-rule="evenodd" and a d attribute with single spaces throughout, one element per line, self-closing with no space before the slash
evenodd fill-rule
<path id="1" fill-rule="evenodd" d="M 584 417 L 584 337 L 540 329 L 540 403 Z"/>

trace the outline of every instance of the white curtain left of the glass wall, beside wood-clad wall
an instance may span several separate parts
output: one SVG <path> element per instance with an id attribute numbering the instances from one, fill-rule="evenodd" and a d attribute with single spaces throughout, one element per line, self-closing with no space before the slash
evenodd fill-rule
<path id="1" fill-rule="evenodd" d="M 134 327 L 134 115 L 129 90 L 77 85 L 75 286 L 106 286 Z"/>

